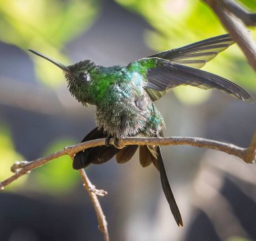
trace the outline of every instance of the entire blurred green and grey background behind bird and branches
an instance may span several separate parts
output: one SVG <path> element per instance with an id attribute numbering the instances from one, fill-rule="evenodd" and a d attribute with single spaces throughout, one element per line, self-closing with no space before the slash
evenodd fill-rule
<path id="1" fill-rule="evenodd" d="M 243 0 L 256 11 L 255 0 Z M 55 65 L 92 59 L 126 65 L 153 53 L 224 34 L 197 0 L 0 1 L 0 179 L 17 160 L 34 160 L 78 143 L 95 127 L 94 107 L 82 107 Z M 251 30 L 256 38 L 256 31 Z M 256 98 L 256 73 L 238 46 L 204 70 L 238 83 Z M 216 90 L 181 87 L 157 103 L 166 136 L 198 136 L 247 146 L 256 105 Z M 108 191 L 100 199 L 112 240 L 255 240 L 255 165 L 217 151 L 164 147 L 166 171 L 185 228 L 177 228 L 154 168 L 138 158 L 90 166 Z M 0 195 L 0 240 L 100 240 L 96 215 L 69 157 L 34 170 Z M 222 225 L 223 224 L 223 225 Z"/>

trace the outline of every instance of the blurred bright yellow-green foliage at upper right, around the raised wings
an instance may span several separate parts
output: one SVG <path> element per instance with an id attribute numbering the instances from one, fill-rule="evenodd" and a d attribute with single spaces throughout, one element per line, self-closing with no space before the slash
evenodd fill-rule
<path id="1" fill-rule="evenodd" d="M 117 3 L 135 11 L 153 27 L 147 30 L 145 40 L 150 48 L 160 52 L 187 45 L 192 42 L 224 34 L 220 21 L 212 10 L 197 0 L 115 0 Z M 243 0 L 249 9 L 256 9 L 256 0 Z M 256 36 L 256 32 L 253 32 Z M 232 50 L 221 53 L 221 57 L 208 63 L 203 69 L 231 79 L 247 90 L 256 91 L 255 72 L 247 60 L 232 46 Z M 224 66 L 224 68 L 223 68 Z M 239 67 L 238 67 L 239 66 Z M 199 104 L 207 99 L 210 91 L 192 87 L 175 88 L 177 98 L 185 104 Z M 186 93 L 186 94 L 185 94 Z"/>

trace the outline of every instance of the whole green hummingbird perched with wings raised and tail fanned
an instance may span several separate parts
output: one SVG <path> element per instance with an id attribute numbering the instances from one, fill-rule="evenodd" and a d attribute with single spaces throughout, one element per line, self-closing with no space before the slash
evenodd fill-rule
<path id="1" fill-rule="evenodd" d="M 132 61 L 126 66 L 103 67 L 91 60 L 63 65 L 35 50 L 32 53 L 57 65 L 67 80 L 72 96 L 81 102 L 96 106 L 96 125 L 84 139 L 106 139 L 106 145 L 79 151 L 73 158 L 73 169 L 89 164 L 102 164 L 114 156 L 119 164 L 131 160 L 139 148 L 139 162 L 147 167 L 153 163 L 160 172 L 164 195 L 178 226 L 183 226 L 179 207 L 170 188 L 160 146 L 119 146 L 125 137 L 163 137 L 164 118 L 154 102 L 179 85 L 201 89 L 216 88 L 245 102 L 253 98 L 240 86 L 200 68 L 218 53 L 234 44 L 228 34 L 201 40 L 181 48 L 166 50 Z M 114 138 L 114 145 L 109 144 Z"/>

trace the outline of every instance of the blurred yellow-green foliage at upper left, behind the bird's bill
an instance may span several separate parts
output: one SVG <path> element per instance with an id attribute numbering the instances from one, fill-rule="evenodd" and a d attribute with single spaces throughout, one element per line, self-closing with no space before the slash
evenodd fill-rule
<path id="1" fill-rule="evenodd" d="M 98 1 L 1 0 L 0 40 L 51 54 L 65 61 L 60 50 L 88 30 L 98 15 Z M 49 86 L 63 83 L 59 69 L 36 58 L 38 77 Z M 49 81 L 51 79 L 51 81 Z"/>

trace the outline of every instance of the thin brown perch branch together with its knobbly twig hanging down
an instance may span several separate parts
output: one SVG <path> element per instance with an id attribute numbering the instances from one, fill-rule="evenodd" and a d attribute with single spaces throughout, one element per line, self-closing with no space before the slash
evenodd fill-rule
<path id="1" fill-rule="evenodd" d="M 110 144 L 113 145 L 113 143 L 114 139 L 110 139 Z M 77 145 L 67 146 L 61 151 L 57 151 L 49 156 L 34 160 L 32 162 L 15 162 L 15 164 L 11 166 L 11 171 L 15 172 L 15 174 L 0 182 L 0 191 L 3 191 L 5 186 L 11 184 L 11 182 L 13 182 L 14 180 L 17 180 L 24 174 L 29 173 L 31 170 L 34 170 L 35 168 L 38 168 L 46 164 L 47 162 L 51 162 L 52 160 L 55 160 L 56 158 L 65 155 L 69 155 L 71 159 L 73 159 L 73 156 L 78 151 L 82 151 L 83 149 L 88 149 L 90 147 L 96 147 L 99 145 L 105 145 L 105 139 L 96 139 L 84 143 L 79 143 Z M 205 147 L 208 149 L 224 151 L 230 155 L 241 158 L 244 162 L 248 164 L 251 164 L 256 160 L 256 131 L 253 135 L 249 147 L 247 148 L 238 147 L 230 143 L 224 143 L 220 141 L 197 137 L 127 137 L 126 139 L 119 140 L 119 145 L 192 145 L 194 147 Z M 90 199 L 92 200 L 92 203 L 94 205 L 100 231 L 103 234 L 104 240 L 108 241 L 109 238 L 106 218 L 104 216 L 102 208 L 100 207 L 100 203 L 97 197 L 97 195 L 106 195 L 106 191 L 96 189 L 96 187 L 90 182 L 88 176 L 86 175 L 86 172 L 83 169 L 79 170 L 79 173 L 82 176 L 82 180 L 84 181 L 84 187 L 86 188 L 86 191 L 88 191 Z"/>

